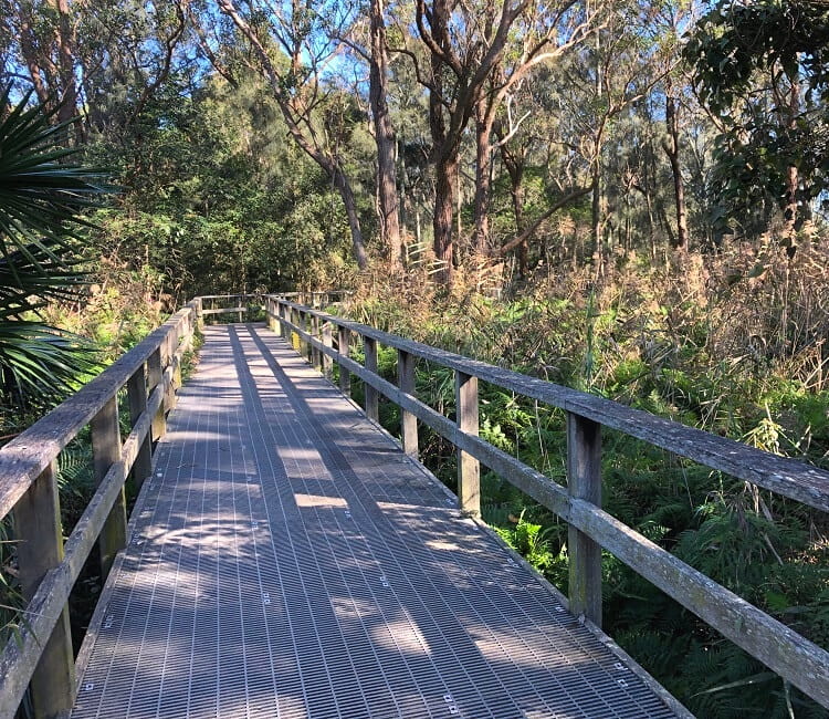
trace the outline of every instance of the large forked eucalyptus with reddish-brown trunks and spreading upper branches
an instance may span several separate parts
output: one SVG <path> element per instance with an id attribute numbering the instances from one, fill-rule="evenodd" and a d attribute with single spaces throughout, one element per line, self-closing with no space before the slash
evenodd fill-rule
<path id="1" fill-rule="evenodd" d="M 487 243 L 490 138 L 501 103 L 535 65 L 559 56 L 587 31 L 578 0 L 501 3 L 416 0 L 414 21 L 427 61 L 411 48 L 398 48 L 417 63 L 429 92 L 431 160 L 434 167 L 434 253 L 451 282 L 453 190 L 459 155 L 470 121 L 476 116 L 476 244 Z"/>

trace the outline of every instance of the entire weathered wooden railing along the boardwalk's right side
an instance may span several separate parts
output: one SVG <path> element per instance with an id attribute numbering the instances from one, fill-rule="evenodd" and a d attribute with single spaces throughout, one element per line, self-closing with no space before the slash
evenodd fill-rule
<path id="1" fill-rule="evenodd" d="M 452 442 L 459 452 L 460 507 L 479 514 L 479 462 L 553 510 L 569 525 L 570 609 L 601 623 L 601 549 L 696 614 L 823 707 L 829 708 L 829 653 L 721 586 L 601 509 L 601 427 L 609 427 L 773 492 L 829 511 L 829 472 L 764 452 L 601 397 L 437 350 L 374 327 L 265 295 L 271 329 L 298 341 L 301 352 L 348 393 L 350 376 L 365 383 L 366 414 L 378 418 L 378 393 L 401 409 L 403 450 L 418 456 L 417 421 Z M 349 357 L 353 336 L 365 365 Z M 397 350 L 397 385 L 377 374 L 378 344 Z M 455 373 L 453 421 L 414 396 L 418 359 Z M 562 408 L 567 415 L 567 487 L 524 465 L 478 436 L 478 381 Z"/>

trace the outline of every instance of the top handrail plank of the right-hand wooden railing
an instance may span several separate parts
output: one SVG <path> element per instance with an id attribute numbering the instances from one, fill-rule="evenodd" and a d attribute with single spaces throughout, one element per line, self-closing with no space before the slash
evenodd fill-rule
<path id="1" fill-rule="evenodd" d="M 293 303 L 286 303 L 292 306 Z M 587 393 L 470 359 L 365 324 L 318 313 L 381 344 L 642 439 L 655 447 L 829 512 L 829 472 Z"/>

